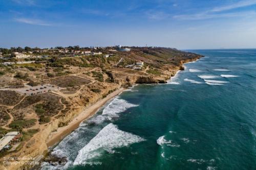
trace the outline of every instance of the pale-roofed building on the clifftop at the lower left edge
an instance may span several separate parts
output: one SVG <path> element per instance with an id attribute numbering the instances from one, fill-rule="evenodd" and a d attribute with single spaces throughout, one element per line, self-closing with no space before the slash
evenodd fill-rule
<path id="1" fill-rule="evenodd" d="M 0 139 L 0 151 L 9 148 L 12 142 L 16 141 L 21 134 L 19 132 L 9 132 Z"/>

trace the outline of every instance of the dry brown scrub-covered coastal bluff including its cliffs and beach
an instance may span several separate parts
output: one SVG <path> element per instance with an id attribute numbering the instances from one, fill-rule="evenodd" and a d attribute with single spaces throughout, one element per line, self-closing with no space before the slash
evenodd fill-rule
<path id="1" fill-rule="evenodd" d="M 42 67 L 38 71 L 47 68 L 54 72 L 54 69 L 68 68 L 65 75 L 58 76 L 55 73 L 54 77 L 49 77 L 49 74 L 42 74 L 36 80 L 31 76 L 30 81 L 33 79 L 39 84 L 52 85 L 52 89 L 45 93 L 26 95 L 20 93 L 17 88 L 7 88 L 7 85 L 3 87 L 4 90 L 0 90 L 3 94 L 3 91 L 9 90 L 20 95 L 20 99 L 12 104 L 5 104 L 0 100 L 0 104 L 4 105 L 3 112 L 12 117 L 12 121 L 2 123 L 6 131 L 11 130 L 10 125 L 15 120 L 34 120 L 23 127 L 23 133 L 27 136 L 20 143 L 21 147 L 14 152 L 7 152 L 0 158 L 1 162 L 4 162 L 6 157 L 34 158 L 33 163 L 26 164 L 26 159 L 8 160 L 9 164 L 1 163 L 0 169 L 31 169 L 47 156 L 49 147 L 71 133 L 84 119 L 91 117 L 98 108 L 122 90 L 134 84 L 166 83 L 178 70 L 184 69 L 184 63 L 203 57 L 175 48 L 161 47 L 134 47 L 131 48 L 131 52 L 113 53 L 114 57 L 108 59 L 99 56 L 92 59 L 84 57 L 63 61 L 64 59 L 60 58 L 56 61 L 47 61 L 45 65 L 41 64 Z M 130 66 L 138 61 L 143 61 L 143 65 Z M 90 66 L 81 67 L 79 62 Z M 56 65 L 53 63 L 62 64 L 63 67 L 54 67 Z M 16 69 L 29 72 L 29 76 L 34 74 L 24 68 Z M 5 76 L 13 77 L 11 73 Z M 17 78 L 14 80 L 16 83 L 27 81 Z M 8 96 L 5 98 L 8 100 Z M 29 133 L 32 130 L 36 132 Z"/>

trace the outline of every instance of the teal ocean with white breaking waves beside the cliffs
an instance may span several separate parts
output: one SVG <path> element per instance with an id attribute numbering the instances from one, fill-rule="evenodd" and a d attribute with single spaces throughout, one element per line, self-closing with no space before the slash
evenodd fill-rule
<path id="1" fill-rule="evenodd" d="M 42 169 L 256 169 L 256 50 L 193 50 L 167 84 L 125 90 Z"/>

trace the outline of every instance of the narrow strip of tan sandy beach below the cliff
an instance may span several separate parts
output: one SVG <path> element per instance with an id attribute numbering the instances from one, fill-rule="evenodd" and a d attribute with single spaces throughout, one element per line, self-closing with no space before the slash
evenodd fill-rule
<path id="1" fill-rule="evenodd" d="M 116 95 L 120 94 L 123 90 L 125 90 L 125 89 L 120 88 L 120 89 L 110 93 L 108 96 L 106 96 L 106 98 L 99 100 L 94 105 L 83 110 L 67 126 L 60 127 L 57 129 L 56 132 L 52 132 L 51 138 L 46 141 L 47 147 L 53 147 L 54 144 L 58 143 L 60 140 L 62 140 L 68 134 L 70 134 L 72 131 L 77 129 L 83 120 L 93 116 L 100 107 L 102 107 L 106 102 L 108 102 L 110 99 L 114 98 Z"/>

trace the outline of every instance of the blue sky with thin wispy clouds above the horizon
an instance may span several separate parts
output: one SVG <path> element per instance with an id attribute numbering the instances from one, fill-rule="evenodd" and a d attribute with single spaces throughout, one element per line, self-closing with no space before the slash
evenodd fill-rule
<path id="1" fill-rule="evenodd" d="M 256 0 L 0 0 L 0 4 L 0 47 L 256 47 Z"/>

